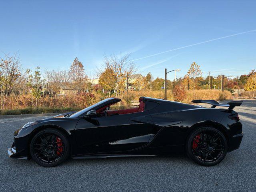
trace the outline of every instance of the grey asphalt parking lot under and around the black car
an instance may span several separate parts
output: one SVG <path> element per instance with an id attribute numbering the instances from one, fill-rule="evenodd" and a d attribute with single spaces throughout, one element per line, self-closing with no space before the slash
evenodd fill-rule
<path id="1" fill-rule="evenodd" d="M 13 132 L 46 117 L 0 119 L 0 191 L 256 191 L 256 100 L 236 107 L 243 123 L 240 149 L 213 167 L 188 157 L 128 157 L 68 160 L 44 168 L 8 158 Z"/>

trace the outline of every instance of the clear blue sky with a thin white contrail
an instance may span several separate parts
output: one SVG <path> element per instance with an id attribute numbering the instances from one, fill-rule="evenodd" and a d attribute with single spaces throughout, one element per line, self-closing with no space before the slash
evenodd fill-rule
<path id="1" fill-rule="evenodd" d="M 1 1 L 0 56 L 22 68 L 68 69 L 75 57 L 93 76 L 104 55 L 131 53 L 138 72 L 206 77 L 256 69 L 256 1 Z M 168 79 L 174 78 L 174 72 Z"/>

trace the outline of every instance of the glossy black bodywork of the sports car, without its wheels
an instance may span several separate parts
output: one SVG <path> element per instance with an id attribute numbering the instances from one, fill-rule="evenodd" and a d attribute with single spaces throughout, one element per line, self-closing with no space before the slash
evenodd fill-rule
<path id="1" fill-rule="evenodd" d="M 221 132 L 227 142 L 227 152 L 240 146 L 242 123 L 232 109 L 242 102 L 223 105 L 214 100 L 194 101 L 212 104 L 212 108 L 204 108 L 141 97 L 138 108 L 107 110 L 120 101 L 119 98 L 108 98 L 79 112 L 32 122 L 14 133 L 14 142 L 8 149 L 9 156 L 30 159 L 32 138 L 47 128 L 65 134 L 72 158 L 155 156 L 185 152 L 189 136 L 200 127 L 212 127 Z"/>

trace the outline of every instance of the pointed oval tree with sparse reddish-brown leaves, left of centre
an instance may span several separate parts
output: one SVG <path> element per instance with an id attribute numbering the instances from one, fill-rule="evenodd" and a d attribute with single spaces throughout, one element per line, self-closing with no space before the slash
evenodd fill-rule
<path id="1" fill-rule="evenodd" d="M 88 83 L 88 77 L 85 74 L 82 62 L 77 57 L 72 62 L 68 74 L 74 88 L 78 89 L 78 92 L 84 90 L 86 83 Z"/>

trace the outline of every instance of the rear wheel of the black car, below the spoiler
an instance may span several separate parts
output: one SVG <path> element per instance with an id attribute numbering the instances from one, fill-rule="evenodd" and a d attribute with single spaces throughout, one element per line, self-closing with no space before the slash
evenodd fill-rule
<path id="1" fill-rule="evenodd" d="M 226 137 L 218 129 L 210 126 L 194 130 L 186 143 L 188 156 L 202 166 L 214 166 L 220 163 L 227 151 Z"/>

